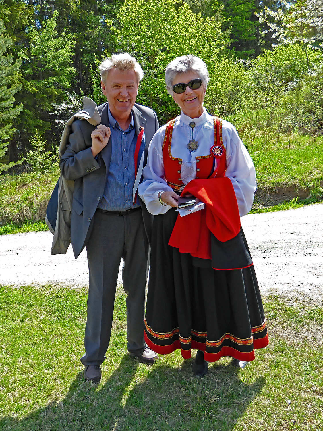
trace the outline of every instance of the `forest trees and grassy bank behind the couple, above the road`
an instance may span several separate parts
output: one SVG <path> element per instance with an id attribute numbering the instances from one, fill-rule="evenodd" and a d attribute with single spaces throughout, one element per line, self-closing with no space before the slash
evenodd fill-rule
<path id="1" fill-rule="evenodd" d="M 165 66 L 208 66 L 205 107 L 237 128 L 255 163 L 256 208 L 323 200 L 323 0 L 0 0 L 0 223 L 43 221 L 58 146 L 82 97 L 103 103 L 98 65 L 127 51 L 137 102 L 179 114 Z M 298 202 L 297 202 L 298 200 Z"/>

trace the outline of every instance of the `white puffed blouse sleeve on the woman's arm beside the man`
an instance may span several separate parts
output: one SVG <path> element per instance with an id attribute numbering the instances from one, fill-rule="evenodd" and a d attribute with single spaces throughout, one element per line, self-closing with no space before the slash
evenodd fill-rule
<path id="1" fill-rule="evenodd" d="M 162 205 L 158 199 L 160 191 L 172 191 L 165 180 L 162 144 L 166 126 L 154 134 L 148 149 L 147 164 L 143 168 L 143 181 L 138 186 L 138 194 L 153 215 L 165 214 L 169 205 Z"/>

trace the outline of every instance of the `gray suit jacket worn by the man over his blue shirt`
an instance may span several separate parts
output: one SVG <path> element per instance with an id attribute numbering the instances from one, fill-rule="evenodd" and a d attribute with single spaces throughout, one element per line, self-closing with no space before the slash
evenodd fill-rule
<path id="1" fill-rule="evenodd" d="M 101 124 L 109 126 L 108 103 L 97 107 Z M 145 130 L 146 164 L 149 143 L 158 130 L 158 119 L 155 111 L 135 103 L 132 109 L 137 135 L 140 128 Z M 81 253 L 87 243 L 89 227 L 99 201 L 102 199 L 105 184 L 109 174 L 111 161 L 111 138 L 95 159 L 91 152 L 91 133 L 95 125 L 86 119 L 76 119 L 71 124 L 66 150 L 62 154 L 59 166 L 62 176 L 67 181 L 74 181 L 73 200 L 71 208 L 71 243 L 75 258 Z M 152 215 L 141 201 L 146 234 L 150 240 Z"/>

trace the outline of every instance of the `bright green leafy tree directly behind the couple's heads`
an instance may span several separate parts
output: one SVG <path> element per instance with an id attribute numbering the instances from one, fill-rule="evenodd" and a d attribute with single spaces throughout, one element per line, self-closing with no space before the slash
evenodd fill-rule
<path id="1" fill-rule="evenodd" d="M 184 1 L 125 2 L 117 20 L 114 31 L 118 51 L 133 54 L 145 72 L 137 101 L 155 109 L 161 123 L 179 113 L 165 88 L 168 62 L 177 56 L 194 54 L 207 63 L 212 78 L 228 43 L 228 32 L 221 31 L 219 16 L 202 17 Z"/>

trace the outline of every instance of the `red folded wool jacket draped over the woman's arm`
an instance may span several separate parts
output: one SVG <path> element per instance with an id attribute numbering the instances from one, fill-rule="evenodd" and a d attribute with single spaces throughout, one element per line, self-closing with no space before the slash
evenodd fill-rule
<path id="1" fill-rule="evenodd" d="M 168 244 L 178 248 L 180 253 L 211 259 L 211 234 L 225 242 L 240 231 L 233 185 L 227 177 L 195 179 L 186 185 L 181 196 L 187 193 L 199 198 L 205 207 L 183 217 L 178 214 Z"/>

